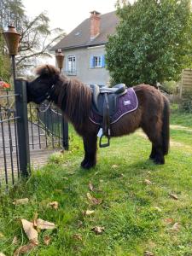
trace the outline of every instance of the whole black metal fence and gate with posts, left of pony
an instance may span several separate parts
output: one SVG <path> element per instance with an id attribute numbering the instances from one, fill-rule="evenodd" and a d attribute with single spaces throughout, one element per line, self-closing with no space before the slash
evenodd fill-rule
<path id="1" fill-rule="evenodd" d="M 68 148 L 68 125 L 48 102 L 26 102 L 26 81 L 14 90 L 0 90 L 0 188 L 15 184 L 30 172 L 30 152 Z"/>

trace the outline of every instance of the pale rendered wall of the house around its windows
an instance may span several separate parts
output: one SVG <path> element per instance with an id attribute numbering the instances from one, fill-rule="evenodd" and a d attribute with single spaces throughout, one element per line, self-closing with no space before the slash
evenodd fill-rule
<path id="1" fill-rule="evenodd" d="M 108 84 L 109 73 L 105 67 L 90 67 L 90 58 L 93 55 L 105 55 L 105 46 L 96 46 L 80 49 L 65 49 L 63 73 L 70 78 L 79 79 L 84 84 Z M 75 55 L 76 72 L 72 75 L 67 73 L 67 56 Z"/>

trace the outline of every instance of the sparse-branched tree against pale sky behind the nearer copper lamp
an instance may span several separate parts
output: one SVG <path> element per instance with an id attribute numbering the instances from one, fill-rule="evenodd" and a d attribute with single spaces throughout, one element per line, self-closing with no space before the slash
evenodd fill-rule
<path id="1" fill-rule="evenodd" d="M 64 36 L 60 28 L 49 29 L 49 17 L 45 13 L 33 19 L 27 17 L 21 0 L 1 0 L 0 28 L 6 29 L 9 24 L 13 24 L 21 35 L 16 56 L 20 74 L 25 73 L 28 67 L 37 66 L 38 56 L 50 56 L 49 49 Z"/>

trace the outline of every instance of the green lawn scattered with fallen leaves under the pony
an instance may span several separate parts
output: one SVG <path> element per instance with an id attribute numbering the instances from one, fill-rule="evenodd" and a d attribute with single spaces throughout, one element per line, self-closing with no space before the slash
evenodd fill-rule
<path id="1" fill-rule="evenodd" d="M 191 115 L 182 118 L 175 111 L 172 125 L 191 128 Z M 137 132 L 113 139 L 110 148 L 100 148 L 98 164 L 90 171 L 79 167 L 83 145 L 71 132 L 69 152 L 51 155 L 49 164 L 33 172 L 26 183 L 0 195 L 0 252 L 13 255 L 15 248 L 27 243 L 20 218 L 32 220 L 38 212 L 39 218 L 57 228 L 41 231 L 39 246 L 28 255 L 140 256 L 150 251 L 158 256 L 191 256 L 191 133 L 177 127 L 171 132 L 172 148 L 164 166 L 148 160 L 150 143 Z M 90 182 L 96 191 L 89 190 Z M 102 204 L 91 205 L 88 192 Z M 24 197 L 29 204 L 13 205 Z M 59 208 L 47 207 L 50 201 L 58 201 Z M 94 214 L 84 216 L 87 209 L 95 210 Z M 175 223 L 178 230 L 172 230 Z M 102 235 L 91 230 L 95 226 L 105 228 Z M 44 245 L 44 236 L 51 237 L 49 246 Z"/>

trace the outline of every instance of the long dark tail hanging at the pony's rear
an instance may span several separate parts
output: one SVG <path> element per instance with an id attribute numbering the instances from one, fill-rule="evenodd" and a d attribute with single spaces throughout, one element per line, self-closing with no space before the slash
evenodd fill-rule
<path id="1" fill-rule="evenodd" d="M 170 107 L 169 102 L 164 97 L 164 108 L 163 108 L 163 125 L 162 125 L 162 143 L 163 143 L 163 154 L 168 154 L 169 151 L 169 138 L 170 138 L 170 128 L 169 128 L 169 117 L 170 117 Z"/>

